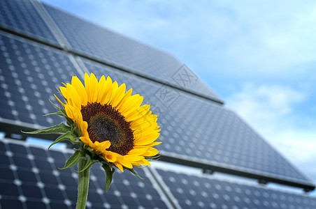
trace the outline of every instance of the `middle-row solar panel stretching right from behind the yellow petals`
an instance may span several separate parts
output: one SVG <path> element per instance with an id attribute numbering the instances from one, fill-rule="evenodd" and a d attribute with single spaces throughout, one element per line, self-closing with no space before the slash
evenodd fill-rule
<path id="1" fill-rule="evenodd" d="M 311 184 L 233 111 L 106 65 L 83 63 L 95 75 L 110 75 L 144 95 L 144 103 L 160 114 L 163 156 Z"/>

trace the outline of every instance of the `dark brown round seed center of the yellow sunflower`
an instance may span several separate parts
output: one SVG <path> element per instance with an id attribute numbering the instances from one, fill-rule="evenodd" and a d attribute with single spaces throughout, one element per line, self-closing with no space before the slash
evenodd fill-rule
<path id="1" fill-rule="evenodd" d="M 119 111 L 108 104 L 88 103 L 81 107 L 83 121 L 87 121 L 87 132 L 92 142 L 110 141 L 107 150 L 126 155 L 134 148 L 134 135 L 130 124 Z"/>

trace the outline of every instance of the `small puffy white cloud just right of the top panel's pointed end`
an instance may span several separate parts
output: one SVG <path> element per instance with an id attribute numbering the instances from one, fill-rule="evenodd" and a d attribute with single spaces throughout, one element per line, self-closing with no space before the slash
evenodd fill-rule
<path id="1" fill-rule="evenodd" d="M 266 123 L 292 112 L 292 104 L 303 102 L 306 95 L 279 85 L 255 86 L 244 84 L 241 91 L 227 99 L 233 107 L 252 123 Z M 255 114 L 254 114 L 255 113 Z"/>

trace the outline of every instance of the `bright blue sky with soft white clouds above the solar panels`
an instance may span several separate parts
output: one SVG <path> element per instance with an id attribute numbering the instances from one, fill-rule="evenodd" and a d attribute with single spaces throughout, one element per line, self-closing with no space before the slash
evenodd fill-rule
<path id="1" fill-rule="evenodd" d="M 316 1 L 44 2 L 175 55 L 316 183 Z"/>

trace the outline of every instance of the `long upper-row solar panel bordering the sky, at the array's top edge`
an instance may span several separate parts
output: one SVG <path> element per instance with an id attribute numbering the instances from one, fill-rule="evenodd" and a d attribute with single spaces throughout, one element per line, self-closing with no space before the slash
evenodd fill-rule
<path id="1" fill-rule="evenodd" d="M 66 37 L 71 50 L 222 102 L 194 72 L 171 54 L 43 5 Z"/>

